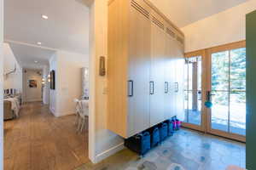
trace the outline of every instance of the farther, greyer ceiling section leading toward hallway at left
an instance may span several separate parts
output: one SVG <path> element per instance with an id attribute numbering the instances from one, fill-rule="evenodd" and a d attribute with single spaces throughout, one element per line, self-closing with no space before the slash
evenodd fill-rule
<path id="1" fill-rule="evenodd" d="M 10 48 L 15 54 L 22 68 L 27 69 L 44 69 L 45 65 L 49 65 L 49 58 L 55 54 L 54 50 L 32 47 L 25 44 L 9 42 Z M 38 63 L 35 63 L 38 61 Z"/>

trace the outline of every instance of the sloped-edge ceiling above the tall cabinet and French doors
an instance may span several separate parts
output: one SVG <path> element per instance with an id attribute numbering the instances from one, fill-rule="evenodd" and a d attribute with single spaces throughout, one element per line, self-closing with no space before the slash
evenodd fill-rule
<path id="1" fill-rule="evenodd" d="M 248 0 L 150 0 L 178 27 L 188 26 Z"/>

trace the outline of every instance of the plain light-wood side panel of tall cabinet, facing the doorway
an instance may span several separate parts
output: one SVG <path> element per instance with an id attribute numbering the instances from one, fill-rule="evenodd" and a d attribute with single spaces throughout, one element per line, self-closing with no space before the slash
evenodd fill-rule
<path id="1" fill-rule="evenodd" d="M 126 137 L 128 2 L 108 6 L 108 129 Z M 118 49 L 118 50 L 117 50 Z"/>

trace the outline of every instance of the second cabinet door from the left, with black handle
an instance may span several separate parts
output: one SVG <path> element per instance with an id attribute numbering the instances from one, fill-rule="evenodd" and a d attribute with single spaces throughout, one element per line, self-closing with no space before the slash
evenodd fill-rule
<path id="1" fill-rule="evenodd" d="M 166 34 L 151 24 L 150 125 L 165 120 L 165 50 Z"/>

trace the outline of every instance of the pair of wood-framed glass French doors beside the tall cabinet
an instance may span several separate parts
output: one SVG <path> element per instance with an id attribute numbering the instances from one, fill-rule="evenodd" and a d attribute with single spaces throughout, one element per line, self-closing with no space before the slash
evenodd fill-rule
<path id="1" fill-rule="evenodd" d="M 186 54 L 185 72 L 183 126 L 245 142 L 245 42 Z"/>

